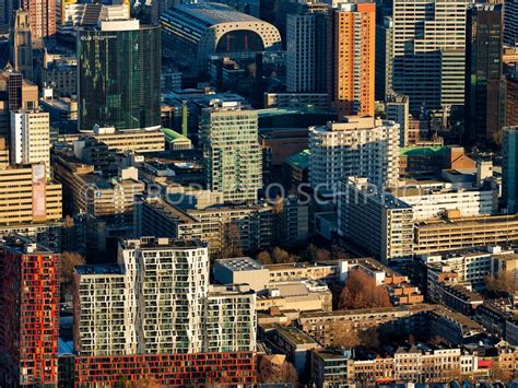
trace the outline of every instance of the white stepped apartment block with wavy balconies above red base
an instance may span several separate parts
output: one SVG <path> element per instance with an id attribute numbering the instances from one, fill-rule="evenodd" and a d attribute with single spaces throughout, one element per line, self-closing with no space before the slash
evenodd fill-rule
<path id="1" fill-rule="evenodd" d="M 117 264 L 75 269 L 75 346 L 82 355 L 255 351 L 256 293 L 209 285 L 198 239 L 119 243 Z"/>

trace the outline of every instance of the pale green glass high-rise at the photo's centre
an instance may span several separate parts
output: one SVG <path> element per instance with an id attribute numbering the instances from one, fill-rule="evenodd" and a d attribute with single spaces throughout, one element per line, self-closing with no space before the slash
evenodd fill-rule
<path id="1" fill-rule="evenodd" d="M 207 186 L 232 203 L 254 203 L 262 187 L 257 111 L 215 103 L 200 118 Z"/>

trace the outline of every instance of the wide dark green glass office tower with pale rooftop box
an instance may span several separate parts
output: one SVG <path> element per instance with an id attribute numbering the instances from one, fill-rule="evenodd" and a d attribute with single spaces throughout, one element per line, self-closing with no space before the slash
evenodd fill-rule
<path id="1" fill-rule="evenodd" d="M 161 125 L 160 26 L 102 22 L 78 34 L 79 130 Z"/>

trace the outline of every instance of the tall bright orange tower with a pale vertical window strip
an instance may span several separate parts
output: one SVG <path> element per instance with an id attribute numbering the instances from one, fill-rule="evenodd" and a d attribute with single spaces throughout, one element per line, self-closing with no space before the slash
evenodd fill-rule
<path id="1" fill-rule="evenodd" d="M 374 117 L 375 3 L 340 3 L 328 25 L 328 93 L 339 119 Z"/>

